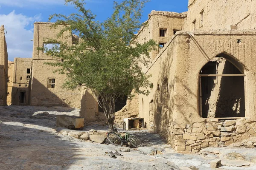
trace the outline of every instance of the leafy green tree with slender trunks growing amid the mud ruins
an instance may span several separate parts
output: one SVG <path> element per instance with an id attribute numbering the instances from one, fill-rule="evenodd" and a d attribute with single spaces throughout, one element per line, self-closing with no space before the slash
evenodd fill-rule
<path id="1" fill-rule="evenodd" d="M 114 2 L 111 17 L 104 22 L 95 21 L 96 15 L 85 8 L 83 0 L 66 0 L 78 10 L 77 14 L 65 16 L 53 14 L 53 27 L 64 26 L 58 37 L 69 31 L 79 38 L 75 44 L 58 42 L 52 49 L 44 49 L 47 55 L 61 59 L 62 62 L 50 62 L 57 66 L 55 72 L 66 74 L 64 87 L 74 89 L 78 85 L 90 88 L 98 97 L 99 106 L 103 109 L 108 125 L 113 130 L 115 121 L 115 101 L 122 96 L 133 96 L 135 93 L 147 95 L 151 85 L 141 66 L 150 63 L 149 52 L 157 47 L 156 42 L 149 40 L 138 43 L 136 35 L 139 28 L 142 9 L 148 0 L 124 0 Z M 71 36 L 71 35 L 70 35 Z"/>

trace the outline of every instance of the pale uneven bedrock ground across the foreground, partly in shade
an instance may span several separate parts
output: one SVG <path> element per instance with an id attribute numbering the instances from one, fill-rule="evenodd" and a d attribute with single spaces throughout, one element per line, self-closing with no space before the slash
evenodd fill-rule
<path id="1" fill-rule="evenodd" d="M 180 154 L 147 130 L 133 132 L 145 147 L 115 147 L 59 133 L 55 121 L 61 114 L 79 116 L 79 109 L 0 107 L 0 170 L 210 170 L 210 161 L 216 159 L 221 159 L 221 169 L 256 170 L 255 147 L 208 147 L 196 154 Z M 83 131 L 91 129 L 108 128 L 94 124 Z M 105 155 L 115 150 L 123 156 Z"/>

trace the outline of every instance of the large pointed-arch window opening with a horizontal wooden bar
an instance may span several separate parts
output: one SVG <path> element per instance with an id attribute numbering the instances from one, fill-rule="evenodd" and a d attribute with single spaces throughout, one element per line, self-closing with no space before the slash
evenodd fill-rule
<path id="1" fill-rule="evenodd" d="M 199 75 L 201 116 L 244 117 L 244 76 L 236 65 L 220 56 L 204 65 Z"/>

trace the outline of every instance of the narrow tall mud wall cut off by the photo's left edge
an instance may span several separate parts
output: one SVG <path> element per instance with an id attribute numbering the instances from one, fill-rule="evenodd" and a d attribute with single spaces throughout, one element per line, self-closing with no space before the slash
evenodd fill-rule
<path id="1" fill-rule="evenodd" d="M 8 79 L 8 53 L 4 26 L 0 26 L 0 105 L 6 105 Z"/>

